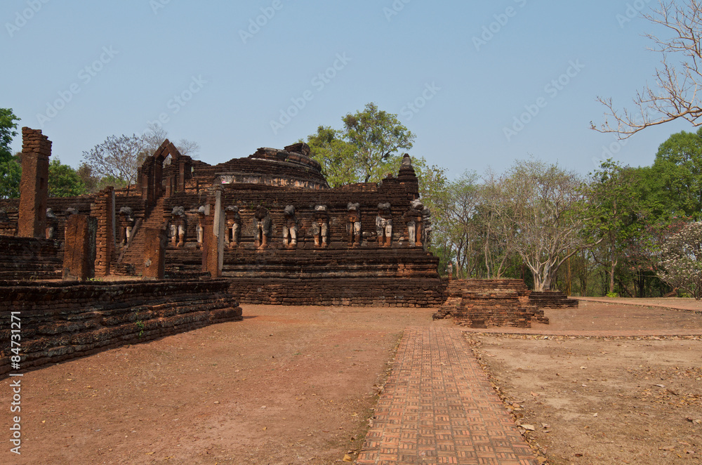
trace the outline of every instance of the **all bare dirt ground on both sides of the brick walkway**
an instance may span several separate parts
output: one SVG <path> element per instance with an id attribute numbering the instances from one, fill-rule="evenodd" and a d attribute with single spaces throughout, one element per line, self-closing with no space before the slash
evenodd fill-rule
<path id="1" fill-rule="evenodd" d="M 244 306 L 242 322 L 27 372 L 22 455 L 4 439 L 0 463 L 344 463 L 402 329 L 452 326 L 433 311 Z M 563 332 L 702 329 L 702 315 L 616 303 L 547 315 L 538 327 Z M 467 338 L 550 463 L 699 463 L 702 338 Z"/>

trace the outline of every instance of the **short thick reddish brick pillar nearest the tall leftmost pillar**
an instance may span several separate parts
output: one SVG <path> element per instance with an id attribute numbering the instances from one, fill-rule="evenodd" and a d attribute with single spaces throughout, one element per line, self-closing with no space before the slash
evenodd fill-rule
<path id="1" fill-rule="evenodd" d="M 88 215 L 71 215 L 66 220 L 63 252 L 63 280 L 86 281 L 95 277 L 95 237 L 98 220 Z"/>

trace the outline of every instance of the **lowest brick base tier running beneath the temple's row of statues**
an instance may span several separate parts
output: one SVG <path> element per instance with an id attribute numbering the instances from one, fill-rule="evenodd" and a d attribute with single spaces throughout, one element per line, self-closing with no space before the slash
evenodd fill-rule
<path id="1" fill-rule="evenodd" d="M 446 284 L 411 278 L 234 278 L 230 292 L 241 303 L 270 305 L 438 307 Z"/>

